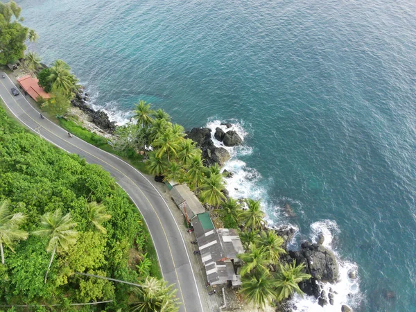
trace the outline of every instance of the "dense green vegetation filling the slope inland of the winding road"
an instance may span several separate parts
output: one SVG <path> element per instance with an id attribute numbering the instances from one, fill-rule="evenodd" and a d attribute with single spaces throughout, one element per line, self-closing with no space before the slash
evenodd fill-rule
<path id="1" fill-rule="evenodd" d="M 145 288 L 73 275 L 138 284 L 160 277 L 144 222 L 109 173 L 27 132 L 3 109 L 0 159 L 0 302 L 64 304 L 58 311 L 72 302 L 113 300 L 83 311 L 142 302 Z M 171 289 L 161 289 L 175 311 Z"/>

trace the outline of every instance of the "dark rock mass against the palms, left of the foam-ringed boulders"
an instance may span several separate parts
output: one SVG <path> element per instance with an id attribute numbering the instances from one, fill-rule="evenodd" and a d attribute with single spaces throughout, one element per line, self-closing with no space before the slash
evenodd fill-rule
<path id="1" fill-rule="evenodd" d="M 187 137 L 196 142 L 196 145 L 202 150 L 202 159 L 207 166 L 215 163 L 224 166 L 231 157 L 225 148 L 218 148 L 214 145 L 209 128 L 193 128 L 187 132 Z"/>

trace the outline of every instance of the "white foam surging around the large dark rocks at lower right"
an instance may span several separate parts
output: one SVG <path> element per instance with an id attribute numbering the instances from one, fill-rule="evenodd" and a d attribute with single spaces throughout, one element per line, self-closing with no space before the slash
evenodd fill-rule
<path id="1" fill-rule="evenodd" d="M 300 312 L 332 312 L 341 311 L 343 304 L 354 308 L 358 306 L 363 299 L 363 295 L 360 293 L 359 288 L 360 278 L 358 276 L 358 266 L 356 263 L 341 260 L 336 249 L 333 248 L 333 241 L 340 234 L 340 229 L 336 222 L 332 220 L 322 220 L 311 224 L 311 239 L 313 242 L 317 241 L 318 234 L 320 233 L 322 233 L 325 238 L 323 243 L 324 247 L 332 250 L 338 262 L 338 282 L 336 282 L 336 284 L 320 284 L 327 295 L 333 293 L 333 305 L 328 303 L 322 307 L 318 304 L 318 300 L 315 299 L 315 297 L 308 295 L 301 297 L 300 295 L 295 295 L 293 300 L 291 300 L 293 309 Z M 352 271 L 356 272 L 356 279 L 350 279 L 348 277 L 349 272 Z M 329 302 L 328 297 L 325 299 Z"/>

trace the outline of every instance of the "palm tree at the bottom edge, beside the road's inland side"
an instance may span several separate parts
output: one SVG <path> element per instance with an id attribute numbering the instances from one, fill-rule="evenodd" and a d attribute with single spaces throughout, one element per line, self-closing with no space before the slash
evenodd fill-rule
<path id="1" fill-rule="evenodd" d="M 175 296 L 176 289 L 168 282 L 155 277 L 146 277 L 140 288 L 134 289 L 137 301 L 131 304 L 130 311 L 139 312 L 176 312 L 179 302 Z"/>

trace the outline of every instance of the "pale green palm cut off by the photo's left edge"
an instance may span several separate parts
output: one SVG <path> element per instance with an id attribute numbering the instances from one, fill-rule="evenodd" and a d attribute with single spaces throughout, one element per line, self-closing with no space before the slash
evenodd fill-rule
<path id="1" fill-rule="evenodd" d="M 28 232 L 23 229 L 19 229 L 19 226 L 24 223 L 26 216 L 21 214 L 10 214 L 8 208 L 8 200 L 0 202 L 0 251 L 1 251 L 1 264 L 4 264 L 4 252 L 3 244 L 6 245 L 12 252 L 15 252 L 12 248 L 15 241 L 20 239 L 27 239 Z"/>

